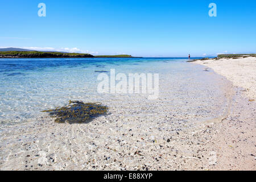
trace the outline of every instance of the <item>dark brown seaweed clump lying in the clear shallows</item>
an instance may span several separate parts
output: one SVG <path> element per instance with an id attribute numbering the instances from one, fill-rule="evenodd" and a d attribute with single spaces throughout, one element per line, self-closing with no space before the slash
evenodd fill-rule
<path id="1" fill-rule="evenodd" d="M 68 106 L 42 112 L 47 112 L 51 117 L 56 118 L 57 123 L 88 123 L 93 118 L 106 114 L 107 111 L 108 107 L 101 104 L 69 101 Z"/>

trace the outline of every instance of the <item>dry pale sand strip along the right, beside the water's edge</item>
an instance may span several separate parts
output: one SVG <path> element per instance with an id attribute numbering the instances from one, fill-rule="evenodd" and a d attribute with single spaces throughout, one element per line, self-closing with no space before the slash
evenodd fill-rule
<path id="1" fill-rule="evenodd" d="M 208 146 L 217 150 L 218 163 L 213 169 L 255 170 L 256 164 L 256 58 L 198 60 L 196 64 L 212 68 L 232 81 L 236 93 L 226 119 L 215 125 Z"/>

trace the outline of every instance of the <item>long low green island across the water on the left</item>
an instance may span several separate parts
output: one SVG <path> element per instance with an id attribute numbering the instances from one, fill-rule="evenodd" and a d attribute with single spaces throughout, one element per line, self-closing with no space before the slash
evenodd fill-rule
<path id="1" fill-rule="evenodd" d="M 65 53 L 65 52 L 42 52 L 42 51 L 3 51 L 0 58 L 62 58 L 62 57 L 133 57 L 131 55 L 104 55 L 93 56 L 89 53 Z"/>

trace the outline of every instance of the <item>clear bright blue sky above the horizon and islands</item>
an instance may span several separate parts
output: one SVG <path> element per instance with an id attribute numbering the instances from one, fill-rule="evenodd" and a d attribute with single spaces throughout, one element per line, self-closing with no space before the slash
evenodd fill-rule
<path id="1" fill-rule="evenodd" d="M 46 17 L 38 4 L 46 4 Z M 210 17 L 209 3 L 217 17 Z M 183 57 L 256 52 L 256 1 L 0 1 L 0 47 Z"/>

